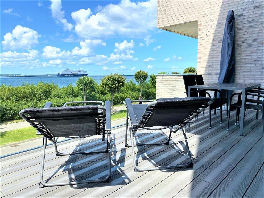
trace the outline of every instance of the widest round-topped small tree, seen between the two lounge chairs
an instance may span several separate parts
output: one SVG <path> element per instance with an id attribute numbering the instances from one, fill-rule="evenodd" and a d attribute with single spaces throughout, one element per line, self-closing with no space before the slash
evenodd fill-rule
<path id="1" fill-rule="evenodd" d="M 126 82 L 126 77 L 122 76 L 122 74 L 110 74 L 109 76 L 105 76 L 100 86 L 106 89 L 106 91 L 111 93 L 111 108 L 113 108 L 114 103 L 114 95 L 118 89 L 122 88 Z"/>

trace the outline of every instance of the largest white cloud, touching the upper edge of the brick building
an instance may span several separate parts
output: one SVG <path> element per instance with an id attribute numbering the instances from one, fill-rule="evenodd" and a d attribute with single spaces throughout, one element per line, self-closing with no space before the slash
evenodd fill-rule
<path id="1" fill-rule="evenodd" d="M 114 35 L 135 37 L 154 30 L 157 26 L 157 1 L 108 4 L 92 15 L 90 8 L 72 12 L 74 30 L 83 38 Z"/>

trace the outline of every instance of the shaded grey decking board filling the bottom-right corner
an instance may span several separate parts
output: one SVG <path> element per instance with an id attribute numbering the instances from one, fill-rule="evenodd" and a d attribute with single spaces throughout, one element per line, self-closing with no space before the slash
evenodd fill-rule
<path id="1" fill-rule="evenodd" d="M 258 171 L 256 177 L 247 189 L 245 196 L 264 197 L 264 165 Z"/>

